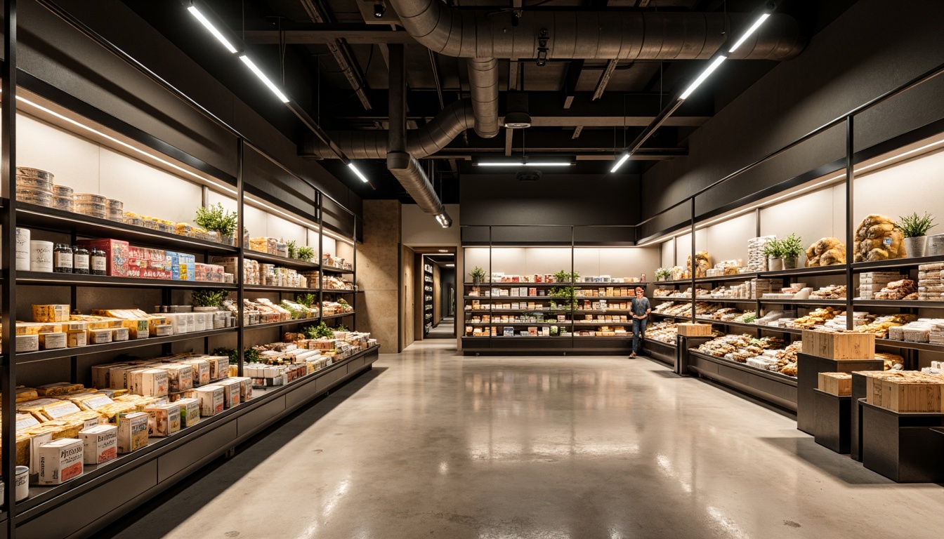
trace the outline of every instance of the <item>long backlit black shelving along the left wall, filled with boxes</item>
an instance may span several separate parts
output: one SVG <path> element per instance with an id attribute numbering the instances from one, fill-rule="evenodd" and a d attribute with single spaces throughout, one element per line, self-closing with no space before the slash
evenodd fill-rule
<path id="1" fill-rule="evenodd" d="M 240 156 L 273 164 L 260 177 L 162 154 L 120 126 L 51 103 L 17 114 L 3 320 L 18 387 L 3 440 L 27 528 L 163 456 L 183 477 L 377 359 L 353 330 L 354 213 L 313 187 L 308 211 L 280 205 L 259 186 L 287 171 L 247 144 Z M 343 217 L 326 223 L 325 204 Z"/>

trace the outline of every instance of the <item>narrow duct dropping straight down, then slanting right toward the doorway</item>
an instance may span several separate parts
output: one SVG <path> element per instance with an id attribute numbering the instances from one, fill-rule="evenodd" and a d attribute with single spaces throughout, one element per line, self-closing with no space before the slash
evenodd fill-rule
<path id="1" fill-rule="evenodd" d="M 422 211 L 435 215 L 443 227 L 452 225 L 452 220 L 443 208 L 443 203 L 432 188 L 430 178 L 413 156 L 407 153 L 407 71 L 403 61 L 403 45 L 390 46 L 390 129 L 387 133 L 387 170 L 413 197 Z"/>

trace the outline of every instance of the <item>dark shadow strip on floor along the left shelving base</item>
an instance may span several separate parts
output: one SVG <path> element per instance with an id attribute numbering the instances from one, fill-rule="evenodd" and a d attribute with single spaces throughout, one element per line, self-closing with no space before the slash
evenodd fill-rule
<path id="1" fill-rule="evenodd" d="M 244 444 L 236 446 L 235 456 L 220 457 L 203 466 L 185 480 L 177 482 L 160 495 L 150 499 L 146 504 L 148 511 L 126 514 L 111 523 L 104 531 L 99 531 L 95 535 L 96 539 L 121 536 L 128 528 L 147 517 L 151 510 L 164 504 L 180 506 L 180 511 L 164 513 L 176 515 L 176 518 L 164 519 L 160 523 L 149 523 L 146 536 L 163 537 L 181 525 L 193 513 L 187 508 L 203 507 L 210 503 L 214 497 L 226 491 L 236 481 L 243 479 L 259 463 L 270 458 L 279 448 L 310 428 L 343 403 L 346 398 L 362 390 L 387 368 L 389 367 L 374 366 L 362 375 L 349 379 L 330 390 L 329 394 L 315 398 L 312 402 L 282 418 L 278 423 L 262 430 Z M 191 489 L 190 487 L 195 483 L 201 483 L 201 488 Z"/>

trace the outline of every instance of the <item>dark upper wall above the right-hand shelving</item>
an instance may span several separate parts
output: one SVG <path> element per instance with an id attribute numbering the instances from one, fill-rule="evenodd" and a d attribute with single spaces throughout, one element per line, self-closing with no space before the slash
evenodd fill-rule
<path id="1" fill-rule="evenodd" d="M 689 139 L 686 158 L 663 161 L 643 177 L 648 217 L 700 188 L 783 147 L 868 100 L 925 73 L 944 59 L 939 22 L 944 2 L 894 6 L 861 0 L 820 31 L 797 59 L 785 61 L 718 111 Z M 723 83 L 722 66 L 713 82 Z M 927 82 L 856 118 L 862 149 L 944 118 L 944 77 Z M 805 173 L 845 155 L 838 126 L 790 150 L 723 189 L 700 197 L 698 212 Z M 646 227 L 641 237 L 683 222 L 688 207 Z"/>

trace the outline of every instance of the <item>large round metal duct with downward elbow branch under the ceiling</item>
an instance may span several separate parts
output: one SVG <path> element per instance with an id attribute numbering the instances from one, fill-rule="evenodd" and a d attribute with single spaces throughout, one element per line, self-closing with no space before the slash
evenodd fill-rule
<path id="1" fill-rule="evenodd" d="M 707 59 L 727 39 L 727 30 L 748 15 L 649 11 L 529 10 L 518 25 L 511 13 L 487 14 L 457 10 L 440 0 L 390 0 L 401 24 L 413 38 L 447 56 L 469 59 L 469 102 L 447 106 L 425 127 L 407 134 L 414 158 L 440 151 L 465 129 L 475 126 L 483 138 L 498 130 L 496 58 L 536 59 Z M 539 39 L 547 30 L 546 53 Z M 791 59 L 806 43 L 795 19 L 773 14 L 761 31 L 738 47 L 733 59 Z M 387 136 L 382 131 L 329 133 L 352 159 L 385 159 Z M 300 154 L 333 159 L 327 146 L 313 137 Z"/>

